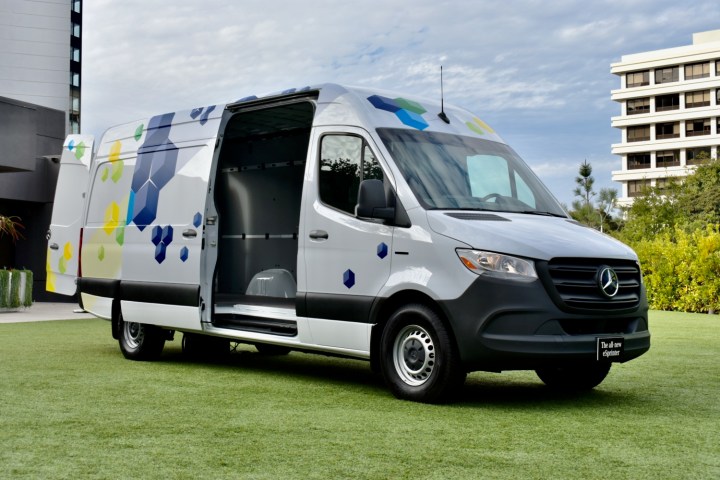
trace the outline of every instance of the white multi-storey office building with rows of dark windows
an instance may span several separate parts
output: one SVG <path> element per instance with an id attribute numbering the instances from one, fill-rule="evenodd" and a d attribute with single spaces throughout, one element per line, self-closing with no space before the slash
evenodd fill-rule
<path id="1" fill-rule="evenodd" d="M 645 186 L 683 177 L 720 145 L 720 30 L 696 33 L 692 45 L 624 55 L 611 65 L 620 77 L 612 99 L 621 106 L 612 145 L 622 167 L 618 205 L 630 205 Z"/>

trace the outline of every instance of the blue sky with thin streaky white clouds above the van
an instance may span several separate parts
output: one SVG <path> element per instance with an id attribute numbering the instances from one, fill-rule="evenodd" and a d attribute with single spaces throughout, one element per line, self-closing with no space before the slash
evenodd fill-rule
<path id="1" fill-rule="evenodd" d="M 82 133 L 326 82 L 440 96 L 490 124 L 566 205 L 616 188 L 623 55 L 720 28 L 694 0 L 83 2 Z"/>

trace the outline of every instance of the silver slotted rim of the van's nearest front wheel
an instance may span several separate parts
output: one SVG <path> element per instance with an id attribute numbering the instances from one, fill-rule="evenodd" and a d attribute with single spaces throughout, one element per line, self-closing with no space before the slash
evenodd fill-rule
<path id="1" fill-rule="evenodd" d="M 393 345 L 395 371 L 406 384 L 417 387 L 432 376 L 435 344 L 424 328 L 408 325 L 397 334 Z"/>

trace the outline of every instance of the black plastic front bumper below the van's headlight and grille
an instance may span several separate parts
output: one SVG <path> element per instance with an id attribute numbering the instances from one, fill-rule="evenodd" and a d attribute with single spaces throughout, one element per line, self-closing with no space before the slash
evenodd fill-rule
<path id="1" fill-rule="evenodd" d="M 650 348 L 645 287 L 632 311 L 571 313 L 542 282 L 480 276 L 462 295 L 441 301 L 467 371 L 536 370 L 595 361 L 597 339 L 621 337 L 626 362 Z"/>

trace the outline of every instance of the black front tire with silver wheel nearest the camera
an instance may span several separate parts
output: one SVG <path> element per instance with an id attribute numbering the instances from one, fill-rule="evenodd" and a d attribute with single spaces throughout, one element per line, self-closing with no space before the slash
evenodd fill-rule
<path id="1" fill-rule="evenodd" d="M 390 316 L 380 340 L 380 356 L 385 383 L 403 400 L 447 401 L 465 381 L 453 338 L 425 305 L 405 305 Z"/>

